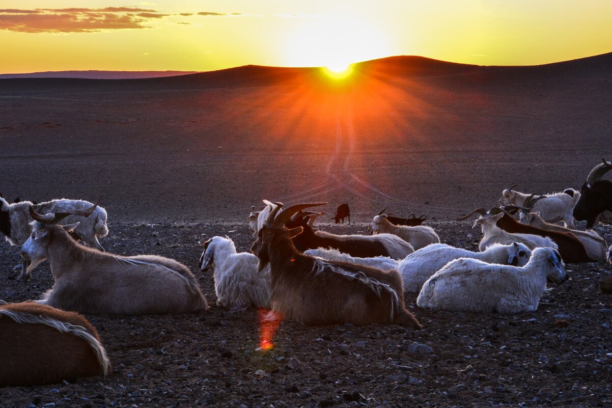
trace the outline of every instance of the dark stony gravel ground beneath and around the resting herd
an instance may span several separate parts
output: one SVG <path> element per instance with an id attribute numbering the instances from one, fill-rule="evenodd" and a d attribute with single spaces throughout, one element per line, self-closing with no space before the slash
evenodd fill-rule
<path id="1" fill-rule="evenodd" d="M 476 249 L 479 232 L 431 224 L 442 242 Z M 333 232 L 365 233 L 365 224 Z M 258 350 L 258 311 L 215 305 L 211 273 L 197 269 L 200 244 L 227 234 L 240 251 L 245 222 L 111 223 L 102 240 L 119 254 L 173 257 L 198 276 L 211 308 L 201 314 L 89 315 L 113 372 L 43 387 L 0 389 L 2 407 L 327 407 L 612 405 L 612 298 L 603 262 L 567 265 L 535 312 L 478 315 L 406 304 L 420 331 L 387 325 L 305 327 L 283 322 L 274 348 Z M 602 229 L 600 232 L 610 230 Z M 51 287 L 47 263 L 18 282 L 18 251 L 0 243 L 0 299 L 37 298 Z"/>

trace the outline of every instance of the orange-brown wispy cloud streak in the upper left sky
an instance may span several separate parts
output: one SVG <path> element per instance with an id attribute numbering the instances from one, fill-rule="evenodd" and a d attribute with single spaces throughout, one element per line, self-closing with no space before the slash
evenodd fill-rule
<path id="1" fill-rule="evenodd" d="M 97 32 L 118 29 L 143 29 L 148 21 L 169 14 L 140 7 L 102 9 L 0 9 L 0 29 L 17 32 Z"/>

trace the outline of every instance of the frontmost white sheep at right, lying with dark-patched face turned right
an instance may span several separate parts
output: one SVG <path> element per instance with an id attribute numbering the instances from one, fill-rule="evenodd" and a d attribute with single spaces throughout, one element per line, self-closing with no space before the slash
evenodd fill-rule
<path id="1" fill-rule="evenodd" d="M 431 276 L 417 297 L 419 308 L 474 313 L 537 310 L 547 279 L 567 279 L 559 252 L 537 248 L 522 266 L 460 258 Z"/>

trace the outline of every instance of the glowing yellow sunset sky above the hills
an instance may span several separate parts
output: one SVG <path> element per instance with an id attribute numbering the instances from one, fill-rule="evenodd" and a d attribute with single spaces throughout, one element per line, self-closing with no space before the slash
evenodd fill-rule
<path id="1" fill-rule="evenodd" d="M 609 0 L 0 0 L 0 74 L 392 55 L 535 65 L 612 51 L 611 16 Z"/>

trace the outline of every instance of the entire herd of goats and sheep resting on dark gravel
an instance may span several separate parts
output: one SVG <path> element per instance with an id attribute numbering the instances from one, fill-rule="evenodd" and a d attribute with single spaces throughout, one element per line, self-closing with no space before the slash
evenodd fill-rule
<path id="1" fill-rule="evenodd" d="M 535 197 L 502 192 L 499 206 L 477 208 L 480 252 L 440 243 L 427 217 L 403 219 L 381 211 L 371 235 L 313 230 L 326 203 L 252 207 L 251 252 L 230 238 L 204 243 L 200 270 L 214 270 L 217 304 L 271 309 L 270 319 L 306 325 L 397 324 L 419 329 L 404 293 L 418 293 L 419 308 L 517 313 L 537 309 L 547 280 L 567 279 L 564 263 L 612 262 L 612 246 L 594 227 L 610 222 L 612 163 L 603 160 L 581 191 Z M 100 200 L 98 200 L 99 202 Z M 9 203 L 0 195 L 0 232 L 21 246 L 22 281 L 48 260 L 53 287 L 41 299 L 0 304 L 0 387 L 105 375 L 111 368 L 95 328 L 83 314 L 174 314 L 207 309 L 187 266 L 157 255 L 104 252 L 106 211 L 81 200 Z M 332 219 L 344 222 L 348 205 Z M 607 217 L 607 218 L 606 218 Z M 586 231 L 573 220 L 586 221 Z M 59 224 L 62 222 L 62 224 Z M 563 222 L 564 226 L 556 223 Z M 84 245 L 81 245 L 82 241 Z M 610 292 L 612 284 L 602 282 Z"/>

